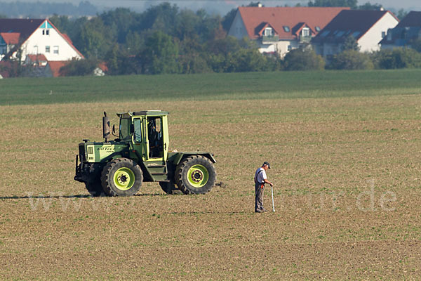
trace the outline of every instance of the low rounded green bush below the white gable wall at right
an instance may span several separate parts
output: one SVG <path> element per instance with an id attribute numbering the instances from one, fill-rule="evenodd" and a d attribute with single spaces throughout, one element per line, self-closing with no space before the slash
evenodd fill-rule
<path id="1" fill-rule="evenodd" d="M 328 68 L 333 70 L 372 70 L 374 65 L 367 53 L 345 50 L 333 56 Z"/>

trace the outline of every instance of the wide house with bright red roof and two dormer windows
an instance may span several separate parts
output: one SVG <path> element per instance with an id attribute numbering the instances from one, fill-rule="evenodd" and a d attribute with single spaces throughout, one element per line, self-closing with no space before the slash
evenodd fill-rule
<path id="1" fill-rule="evenodd" d="M 228 35 L 258 43 L 260 53 L 281 57 L 309 45 L 344 7 L 239 7 Z"/>

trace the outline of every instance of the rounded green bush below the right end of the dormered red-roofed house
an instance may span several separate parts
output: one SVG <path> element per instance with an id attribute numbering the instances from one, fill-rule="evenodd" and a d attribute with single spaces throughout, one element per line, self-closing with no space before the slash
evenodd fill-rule
<path id="1" fill-rule="evenodd" d="M 323 70 L 325 64 L 320 55 L 308 48 L 296 48 L 283 58 L 285 70 Z"/>

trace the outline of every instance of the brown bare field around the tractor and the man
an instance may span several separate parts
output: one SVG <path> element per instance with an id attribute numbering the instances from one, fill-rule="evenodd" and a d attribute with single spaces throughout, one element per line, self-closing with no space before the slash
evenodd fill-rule
<path id="1" fill-rule="evenodd" d="M 162 109 L 170 149 L 215 154 L 206 195 L 92 198 L 77 144 L 102 112 Z M 421 94 L 1 106 L 6 280 L 418 279 Z M 115 116 L 115 117 L 114 117 Z M 270 162 L 276 212 L 253 212 Z M 265 207 L 271 210 L 270 188 Z"/>

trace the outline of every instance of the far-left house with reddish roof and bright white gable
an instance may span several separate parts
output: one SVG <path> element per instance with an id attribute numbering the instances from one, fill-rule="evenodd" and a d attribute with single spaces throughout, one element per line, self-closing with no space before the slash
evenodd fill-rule
<path id="1" fill-rule="evenodd" d="M 22 63 L 28 55 L 44 55 L 48 61 L 84 58 L 48 19 L 0 19 L 0 60 L 16 59 L 19 53 Z"/>

